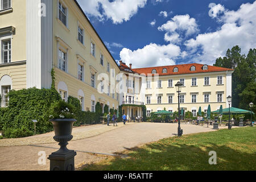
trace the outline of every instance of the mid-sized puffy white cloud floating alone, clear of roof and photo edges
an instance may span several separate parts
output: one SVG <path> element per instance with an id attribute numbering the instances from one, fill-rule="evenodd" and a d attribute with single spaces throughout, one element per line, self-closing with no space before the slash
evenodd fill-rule
<path id="1" fill-rule="evenodd" d="M 182 40 L 181 33 L 184 32 L 185 37 L 190 36 L 199 32 L 197 27 L 196 20 L 194 18 L 190 18 L 187 14 L 174 16 L 174 18 L 169 20 L 167 23 L 158 27 L 158 30 L 166 31 L 166 34 L 164 35 L 164 40 L 166 40 L 166 42 L 180 43 Z"/>

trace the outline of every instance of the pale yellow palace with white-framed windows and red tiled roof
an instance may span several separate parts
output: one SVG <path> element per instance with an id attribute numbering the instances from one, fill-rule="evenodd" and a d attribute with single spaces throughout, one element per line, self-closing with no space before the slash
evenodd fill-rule
<path id="1" fill-rule="evenodd" d="M 141 105 L 148 116 L 164 107 L 176 111 L 177 81 L 183 83 L 181 107 L 194 115 L 200 106 L 226 107 L 232 95 L 232 69 L 117 64 L 76 0 L 0 0 L 0 43 L 3 107 L 11 89 L 51 88 L 52 68 L 63 100 L 79 98 L 84 111 L 95 111 L 97 102 L 113 109 L 123 105 L 129 118 L 142 117 Z"/>

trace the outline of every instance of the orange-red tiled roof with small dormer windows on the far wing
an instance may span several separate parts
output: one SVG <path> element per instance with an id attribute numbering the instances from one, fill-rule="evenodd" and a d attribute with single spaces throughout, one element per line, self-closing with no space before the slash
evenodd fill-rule
<path id="1" fill-rule="evenodd" d="M 196 71 L 191 71 L 191 67 L 195 66 Z M 180 65 L 171 65 L 171 66 L 163 66 L 163 67 L 150 67 L 150 68 L 136 68 L 132 69 L 134 72 L 137 72 L 139 74 L 145 73 L 145 74 L 151 74 L 152 70 L 155 69 L 156 73 L 159 74 L 159 76 L 164 75 L 182 75 L 182 74 L 189 74 L 189 73 L 205 73 L 205 72 L 221 72 L 221 71 L 233 71 L 233 69 L 228 68 L 221 68 L 221 67 L 213 67 L 208 65 L 207 70 L 203 70 L 204 64 L 180 64 Z M 167 73 L 163 73 L 163 69 L 167 69 Z M 178 68 L 178 72 L 174 72 L 174 68 Z"/>

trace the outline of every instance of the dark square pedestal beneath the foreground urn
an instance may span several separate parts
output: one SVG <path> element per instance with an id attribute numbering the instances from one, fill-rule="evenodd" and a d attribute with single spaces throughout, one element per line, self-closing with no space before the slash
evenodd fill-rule
<path id="1" fill-rule="evenodd" d="M 50 171 L 75 171 L 76 152 L 71 150 L 66 153 L 53 152 L 49 155 Z"/>

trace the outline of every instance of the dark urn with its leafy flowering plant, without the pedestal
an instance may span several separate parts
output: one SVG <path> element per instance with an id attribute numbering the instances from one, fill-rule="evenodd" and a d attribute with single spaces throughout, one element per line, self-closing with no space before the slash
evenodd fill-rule
<path id="1" fill-rule="evenodd" d="M 71 133 L 73 123 L 76 122 L 75 112 L 76 109 L 73 105 L 62 100 L 55 102 L 50 107 L 49 121 L 52 122 L 55 131 L 55 137 L 53 139 L 59 142 L 60 145 L 60 150 L 54 152 L 55 154 L 70 152 L 67 144 L 73 138 Z"/>

